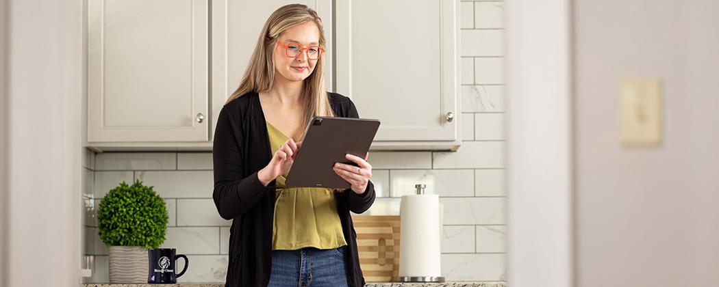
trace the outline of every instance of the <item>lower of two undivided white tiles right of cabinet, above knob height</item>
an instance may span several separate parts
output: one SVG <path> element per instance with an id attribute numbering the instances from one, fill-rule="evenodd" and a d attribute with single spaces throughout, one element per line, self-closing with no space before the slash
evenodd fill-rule
<path id="1" fill-rule="evenodd" d="M 503 111 L 503 85 L 462 85 L 462 112 Z"/>

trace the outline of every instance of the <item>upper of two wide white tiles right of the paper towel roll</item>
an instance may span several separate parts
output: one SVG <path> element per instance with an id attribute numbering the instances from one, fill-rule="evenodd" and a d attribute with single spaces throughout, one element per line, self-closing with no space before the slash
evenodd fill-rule
<path id="1" fill-rule="evenodd" d="M 503 225 L 502 197 L 444 197 L 444 225 Z"/>

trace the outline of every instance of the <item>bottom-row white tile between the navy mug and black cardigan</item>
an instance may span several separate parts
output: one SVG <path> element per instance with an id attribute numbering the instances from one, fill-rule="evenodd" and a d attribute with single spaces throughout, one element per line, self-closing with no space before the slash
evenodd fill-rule
<path id="1" fill-rule="evenodd" d="M 181 253 L 178 250 L 178 253 Z M 227 276 L 227 255 L 188 255 L 190 265 L 178 283 L 224 283 Z M 184 260 L 177 261 L 176 269 L 182 270 Z M 179 271 L 178 271 L 179 272 Z"/>

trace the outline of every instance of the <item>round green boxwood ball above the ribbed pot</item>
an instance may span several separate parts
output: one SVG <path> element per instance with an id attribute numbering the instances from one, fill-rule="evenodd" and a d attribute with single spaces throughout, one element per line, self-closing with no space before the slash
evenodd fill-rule
<path id="1" fill-rule="evenodd" d="M 158 248 L 168 229 L 165 200 L 139 180 L 111 189 L 100 202 L 97 220 L 100 239 L 108 246 Z"/>

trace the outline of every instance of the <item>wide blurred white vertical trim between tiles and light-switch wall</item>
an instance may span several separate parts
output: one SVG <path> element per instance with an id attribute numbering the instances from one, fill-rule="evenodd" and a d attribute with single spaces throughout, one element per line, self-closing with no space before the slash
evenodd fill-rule
<path id="1" fill-rule="evenodd" d="M 507 1 L 508 284 L 574 285 L 569 0 Z"/>

